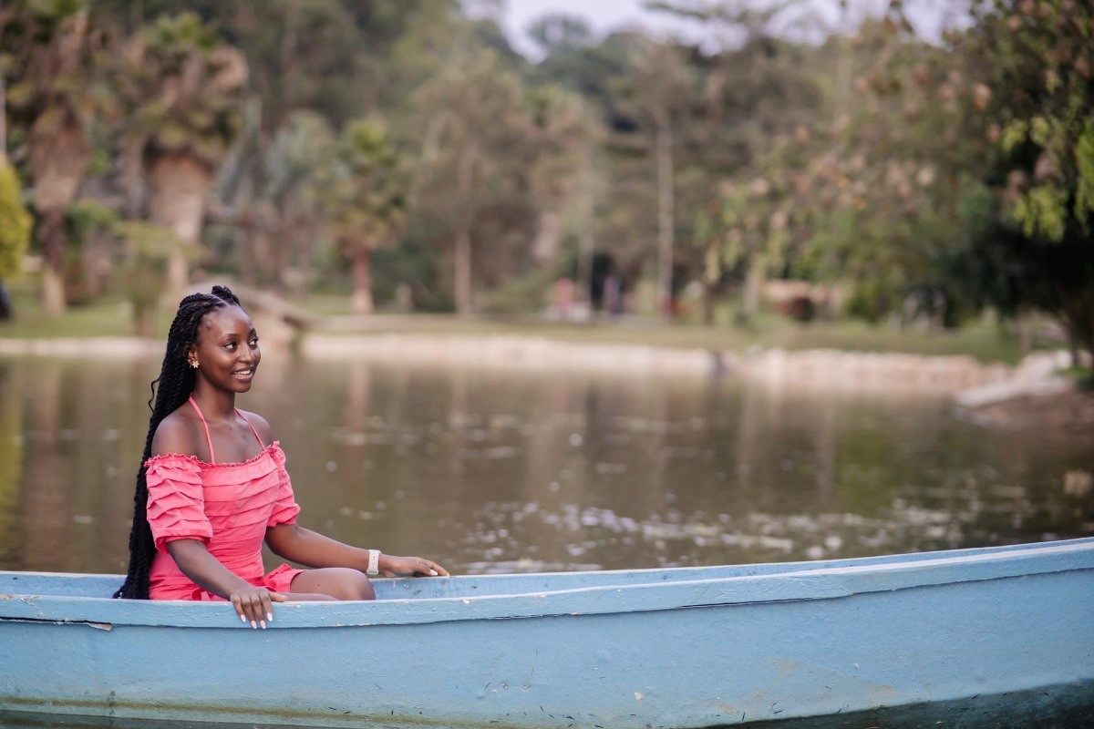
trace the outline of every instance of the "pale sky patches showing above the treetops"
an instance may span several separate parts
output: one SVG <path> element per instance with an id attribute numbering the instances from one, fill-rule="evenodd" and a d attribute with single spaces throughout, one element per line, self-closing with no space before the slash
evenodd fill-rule
<path id="1" fill-rule="evenodd" d="M 764 0 L 756 0 L 757 3 Z M 856 16 L 876 13 L 886 0 L 850 0 Z M 589 22 L 597 36 L 604 36 L 620 28 L 641 27 L 653 36 L 682 35 L 691 37 L 696 25 L 671 17 L 664 12 L 652 12 L 642 8 L 642 0 L 503 0 L 502 26 L 516 50 L 534 57 L 535 46 L 528 40 L 525 28 L 535 20 L 548 13 L 577 15 Z M 810 4 L 818 16 L 836 23 L 837 0 L 811 0 Z M 907 3 L 911 22 L 927 36 L 936 35 L 940 19 L 945 9 L 952 9 L 953 0 L 913 0 Z"/>

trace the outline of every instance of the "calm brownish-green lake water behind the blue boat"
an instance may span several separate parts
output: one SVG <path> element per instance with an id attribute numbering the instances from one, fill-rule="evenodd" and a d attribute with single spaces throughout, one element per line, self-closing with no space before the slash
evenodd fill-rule
<path id="1" fill-rule="evenodd" d="M 158 371 L 0 357 L 0 569 L 125 571 Z M 987 428 L 943 396 L 267 353 L 238 404 L 280 439 L 301 524 L 454 573 L 1094 533 L 1090 494 L 1064 487 L 1094 439 Z"/>

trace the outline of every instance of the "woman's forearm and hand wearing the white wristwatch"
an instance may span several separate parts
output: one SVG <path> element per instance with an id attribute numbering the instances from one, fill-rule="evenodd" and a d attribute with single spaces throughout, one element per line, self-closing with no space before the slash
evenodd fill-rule
<path id="1" fill-rule="evenodd" d="M 344 544 L 295 524 L 279 524 L 266 530 L 266 543 L 278 556 L 309 567 L 352 567 L 365 572 L 369 550 Z M 386 577 L 397 575 L 444 576 L 449 572 L 422 557 L 380 555 L 380 572 Z"/>

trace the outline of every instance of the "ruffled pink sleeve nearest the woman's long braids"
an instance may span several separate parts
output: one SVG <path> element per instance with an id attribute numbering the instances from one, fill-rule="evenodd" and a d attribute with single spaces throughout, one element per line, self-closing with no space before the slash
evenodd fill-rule
<path id="1" fill-rule="evenodd" d="M 205 513 L 201 467 L 188 456 L 168 454 L 150 458 L 148 465 L 148 524 L 155 548 L 167 551 L 176 539 L 212 539 L 212 525 Z"/>

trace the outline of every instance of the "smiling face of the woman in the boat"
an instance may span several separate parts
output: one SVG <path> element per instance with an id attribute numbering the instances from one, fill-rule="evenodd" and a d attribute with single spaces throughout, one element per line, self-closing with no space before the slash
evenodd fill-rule
<path id="1" fill-rule="evenodd" d="M 198 363 L 198 377 L 219 389 L 246 392 L 261 360 L 258 332 L 238 306 L 223 306 L 206 314 L 190 358 Z"/>

